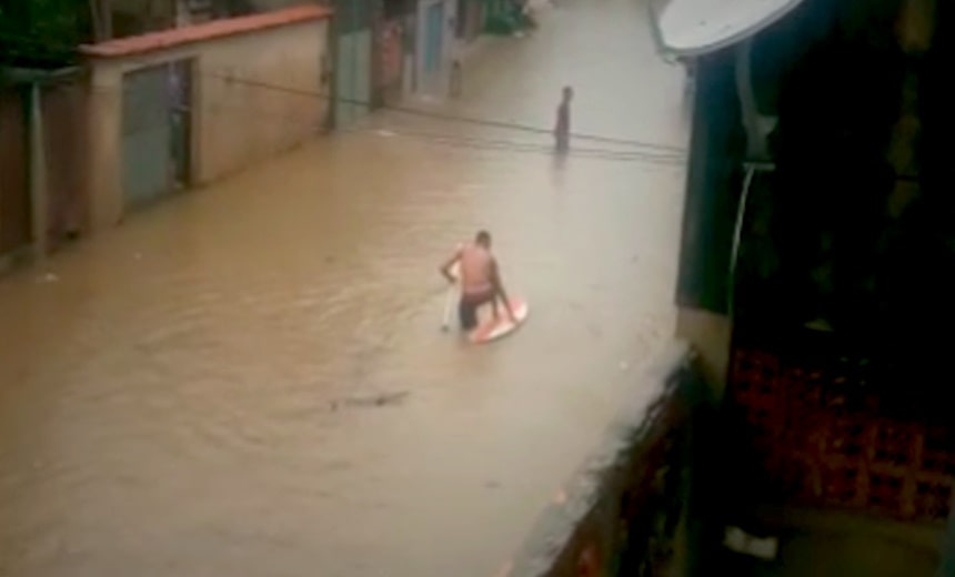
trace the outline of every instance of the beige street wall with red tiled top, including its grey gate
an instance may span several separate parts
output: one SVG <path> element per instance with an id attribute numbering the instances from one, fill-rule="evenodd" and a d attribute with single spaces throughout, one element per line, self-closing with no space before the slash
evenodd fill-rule
<path id="1" fill-rule="evenodd" d="M 298 7 L 83 47 L 93 225 L 322 132 L 331 14 Z"/>

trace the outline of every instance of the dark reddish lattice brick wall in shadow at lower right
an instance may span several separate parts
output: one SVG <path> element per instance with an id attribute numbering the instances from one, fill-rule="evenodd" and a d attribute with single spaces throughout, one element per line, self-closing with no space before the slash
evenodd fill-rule
<path id="1" fill-rule="evenodd" d="M 791 503 L 944 519 L 955 434 L 889 418 L 853 360 L 738 348 L 727 401 L 745 415 L 748 452 Z"/>

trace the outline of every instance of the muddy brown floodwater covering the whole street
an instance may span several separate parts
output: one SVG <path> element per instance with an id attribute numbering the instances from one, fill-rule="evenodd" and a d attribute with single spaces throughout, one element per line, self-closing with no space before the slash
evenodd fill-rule
<path id="1" fill-rule="evenodd" d="M 645 19 L 561 0 L 453 104 L 0 280 L 0 575 L 493 575 L 673 332 L 682 74 Z M 546 129 L 565 83 L 575 133 L 636 143 L 439 118 Z M 531 306 L 484 347 L 438 274 L 480 227 Z"/>

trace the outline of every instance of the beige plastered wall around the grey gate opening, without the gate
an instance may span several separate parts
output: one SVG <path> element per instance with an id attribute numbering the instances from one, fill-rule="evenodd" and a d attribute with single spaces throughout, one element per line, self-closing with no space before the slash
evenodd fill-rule
<path id="1" fill-rule="evenodd" d="M 295 10 L 295 9 L 292 9 Z M 281 16 L 281 14 L 280 14 Z M 237 33 L 197 41 L 229 21 L 215 21 L 89 47 L 89 189 L 96 229 L 123 214 L 121 185 L 123 74 L 179 60 L 193 61 L 192 182 L 203 184 L 268 159 L 320 132 L 329 99 L 323 97 L 329 20 L 313 18 L 254 28 L 259 14 Z M 190 30 L 198 32 L 190 34 Z M 169 34 L 169 39 L 163 37 Z M 139 49 L 135 43 L 139 43 Z M 142 45 L 148 47 L 141 49 Z M 105 47 L 105 48 L 103 48 Z M 110 47 L 119 47 L 112 50 Z M 132 47 L 132 48 L 130 48 Z M 112 55 L 114 52 L 129 52 Z"/>

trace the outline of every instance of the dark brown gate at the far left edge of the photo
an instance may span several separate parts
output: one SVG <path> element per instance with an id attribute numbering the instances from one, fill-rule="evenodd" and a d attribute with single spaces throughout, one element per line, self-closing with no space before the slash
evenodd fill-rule
<path id="1" fill-rule="evenodd" d="M 30 244 L 26 120 L 21 93 L 0 91 L 0 255 Z"/>

